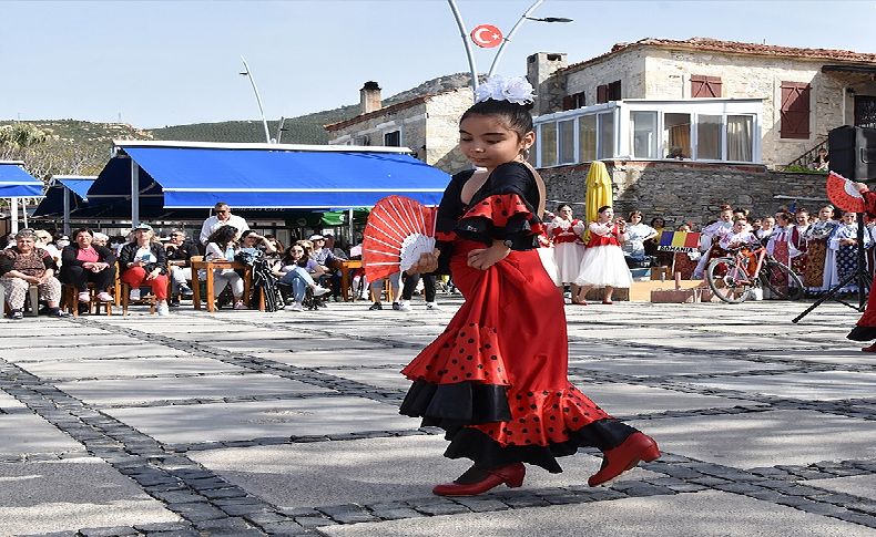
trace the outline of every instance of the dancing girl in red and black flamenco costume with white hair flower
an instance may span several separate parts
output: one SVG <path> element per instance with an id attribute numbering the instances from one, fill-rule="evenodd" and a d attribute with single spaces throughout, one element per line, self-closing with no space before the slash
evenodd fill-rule
<path id="1" fill-rule="evenodd" d="M 531 102 L 523 79 L 492 78 L 478 87 L 459 124 L 460 149 L 478 169 L 452 177 L 438 208 L 436 249 L 409 269 L 449 265 L 466 297 L 445 332 L 403 370 L 414 384 L 400 412 L 445 428 L 445 456 L 473 462 L 436 486 L 439 496 L 519 487 L 523 463 L 559 473 L 556 457 L 580 446 L 604 454 L 591 486 L 660 456 L 651 437 L 569 383 L 562 296 L 534 251 L 546 196 L 526 163 L 534 142 Z"/>

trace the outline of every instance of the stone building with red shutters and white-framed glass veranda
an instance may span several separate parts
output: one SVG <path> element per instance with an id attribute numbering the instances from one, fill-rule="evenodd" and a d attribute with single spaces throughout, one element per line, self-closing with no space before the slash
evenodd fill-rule
<path id="1" fill-rule="evenodd" d="M 541 167 L 593 158 L 787 165 L 841 125 L 876 126 L 876 54 L 693 38 L 569 65 L 528 58 Z M 804 157 L 805 158 L 805 157 Z"/>

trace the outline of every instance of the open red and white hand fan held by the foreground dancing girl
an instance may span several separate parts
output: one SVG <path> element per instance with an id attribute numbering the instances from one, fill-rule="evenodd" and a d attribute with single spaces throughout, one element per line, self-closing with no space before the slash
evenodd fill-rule
<path id="1" fill-rule="evenodd" d="M 368 281 L 407 270 L 420 254 L 435 248 L 435 207 L 405 196 L 388 196 L 374 206 L 365 225 L 361 261 Z"/>

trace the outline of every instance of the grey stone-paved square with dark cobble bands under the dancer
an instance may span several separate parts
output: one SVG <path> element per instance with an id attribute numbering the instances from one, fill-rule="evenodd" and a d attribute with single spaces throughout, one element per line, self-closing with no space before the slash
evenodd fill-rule
<path id="1" fill-rule="evenodd" d="M 570 306 L 570 375 L 664 456 L 448 499 L 467 463 L 398 414 L 398 370 L 458 304 L 0 321 L 0 535 L 876 535 L 853 310 Z"/>

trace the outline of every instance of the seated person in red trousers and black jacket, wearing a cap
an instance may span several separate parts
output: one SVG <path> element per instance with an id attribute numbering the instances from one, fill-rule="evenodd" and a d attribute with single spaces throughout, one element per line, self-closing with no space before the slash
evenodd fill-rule
<path id="1" fill-rule="evenodd" d="M 134 240 L 124 245 L 119 252 L 120 278 L 131 286 L 131 300 L 140 300 L 140 288 L 150 287 L 157 300 L 159 314 L 166 316 L 170 313 L 167 255 L 154 238 L 155 234 L 149 224 L 140 224 L 134 228 Z"/>

